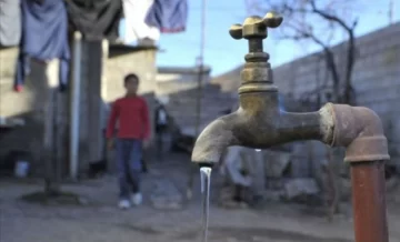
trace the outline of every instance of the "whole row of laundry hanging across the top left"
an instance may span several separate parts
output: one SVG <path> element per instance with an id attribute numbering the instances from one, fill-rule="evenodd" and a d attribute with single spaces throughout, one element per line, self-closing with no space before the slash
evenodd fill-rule
<path id="1" fill-rule="evenodd" d="M 60 59 L 60 87 L 69 73 L 68 31 L 86 40 L 117 40 L 130 44 L 158 41 L 160 33 L 186 30 L 187 0 L 0 0 L 0 46 L 19 46 L 14 89 L 29 73 L 29 59 Z M 124 19 L 120 34 L 121 19 Z"/>

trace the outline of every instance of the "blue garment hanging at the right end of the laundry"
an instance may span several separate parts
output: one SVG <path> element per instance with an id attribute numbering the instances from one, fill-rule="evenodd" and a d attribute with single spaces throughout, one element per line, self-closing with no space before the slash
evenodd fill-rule
<path id="1" fill-rule="evenodd" d="M 188 21 L 187 0 L 154 0 L 146 22 L 163 33 L 182 32 Z"/>

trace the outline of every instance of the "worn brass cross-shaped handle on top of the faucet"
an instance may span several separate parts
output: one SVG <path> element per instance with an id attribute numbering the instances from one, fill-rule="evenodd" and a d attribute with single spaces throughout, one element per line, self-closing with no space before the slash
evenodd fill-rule
<path id="1" fill-rule="evenodd" d="M 264 18 L 252 16 L 244 20 L 243 24 L 233 24 L 229 33 L 236 39 L 266 39 L 268 36 L 268 28 L 277 28 L 283 21 L 283 18 L 276 12 L 268 12 Z"/>

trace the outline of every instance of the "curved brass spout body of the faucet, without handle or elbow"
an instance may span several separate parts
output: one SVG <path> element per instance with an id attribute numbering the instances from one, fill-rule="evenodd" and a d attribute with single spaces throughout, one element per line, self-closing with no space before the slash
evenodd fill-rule
<path id="1" fill-rule="evenodd" d="M 192 152 L 193 162 L 216 163 L 231 145 L 267 149 L 296 140 L 329 143 L 332 139 L 333 117 L 327 107 L 308 113 L 270 112 L 276 110 L 271 105 L 259 105 L 258 110 L 253 104 L 247 109 L 246 98 L 241 99 L 241 105 L 244 109 L 217 119 L 200 133 Z"/>

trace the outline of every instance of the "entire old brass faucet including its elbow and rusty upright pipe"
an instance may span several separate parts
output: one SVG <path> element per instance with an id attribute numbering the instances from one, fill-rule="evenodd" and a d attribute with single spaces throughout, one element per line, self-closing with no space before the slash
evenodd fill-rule
<path id="1" fill-rule="evenodd" d="M 387 242 L 384 162 L 389 160 L 387 139 L 379 117 L 370 109 L 327 103 L 317 112 L 284 112 L 278 105 L 269 54 L 262 41 L 269 28 L 283 18 L 269 12 L 233 24 L 233 39 L 249 41 L 241 71 L 239 109 L 211 122 L 199 135 L 192 161 L 212 165 L 231 145 L 267 149 L 297 140 L 320 140 L 331 147 L 346 147 L 350 162 L 357 242 Z M 366 177 L 368 174 L 369 177 Z M 362 183 L 362 185 L 361 185 Z"/>

